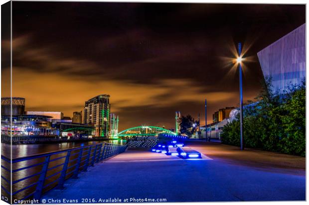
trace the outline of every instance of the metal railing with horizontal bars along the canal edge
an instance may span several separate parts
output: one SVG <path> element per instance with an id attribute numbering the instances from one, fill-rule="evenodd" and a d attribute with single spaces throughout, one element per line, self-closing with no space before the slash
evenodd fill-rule
<path id="1" fill-rule="evenodd" d="M 2 193 L 4 191 L 12 200 L 40 200 L 43 193 L 53 188 L 63 189 L 66 179 L 77 179 L 78 173 L 87 171 L 87 168 L 95 163 L 124 152 L 126 148 L 127 145 L 103 142 L 12 160 L 1 155 Z"/>

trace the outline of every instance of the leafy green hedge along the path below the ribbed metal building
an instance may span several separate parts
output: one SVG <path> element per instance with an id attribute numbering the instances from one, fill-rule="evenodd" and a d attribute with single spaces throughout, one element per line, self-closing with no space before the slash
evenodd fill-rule
<path id="1" fill-rule="evenodd" d="M 240 145 L 239 116 L 224 126 L 222 143 Z M 264 91 L 254 106 L 244 107 L 244 146 L 306 155 L 306 87 L 284 97 Z"/>

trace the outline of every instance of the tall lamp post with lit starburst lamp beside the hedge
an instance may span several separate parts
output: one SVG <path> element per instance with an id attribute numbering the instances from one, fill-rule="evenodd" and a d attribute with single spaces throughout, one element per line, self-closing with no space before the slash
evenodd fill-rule
<path id="1" fill-rule="evenodd" d="M 237 58 L 238 68 L 239 68 L 239 109 L 240 109 L 240 150 L 244 149 L 244 136 L 243 136 L 243 78 L 242 78 L 242 68 L 241 68 L 241 43 L 238 43 L 238 58 Z"/>

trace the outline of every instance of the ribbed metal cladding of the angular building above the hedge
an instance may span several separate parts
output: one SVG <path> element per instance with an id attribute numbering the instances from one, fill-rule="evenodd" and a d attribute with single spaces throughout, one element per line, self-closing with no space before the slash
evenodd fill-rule
<path id="1" fill-rule="evenodd" d="M 258 52 L 273 94 L 282 95 L 306 80 L 306 23 Z"/>

